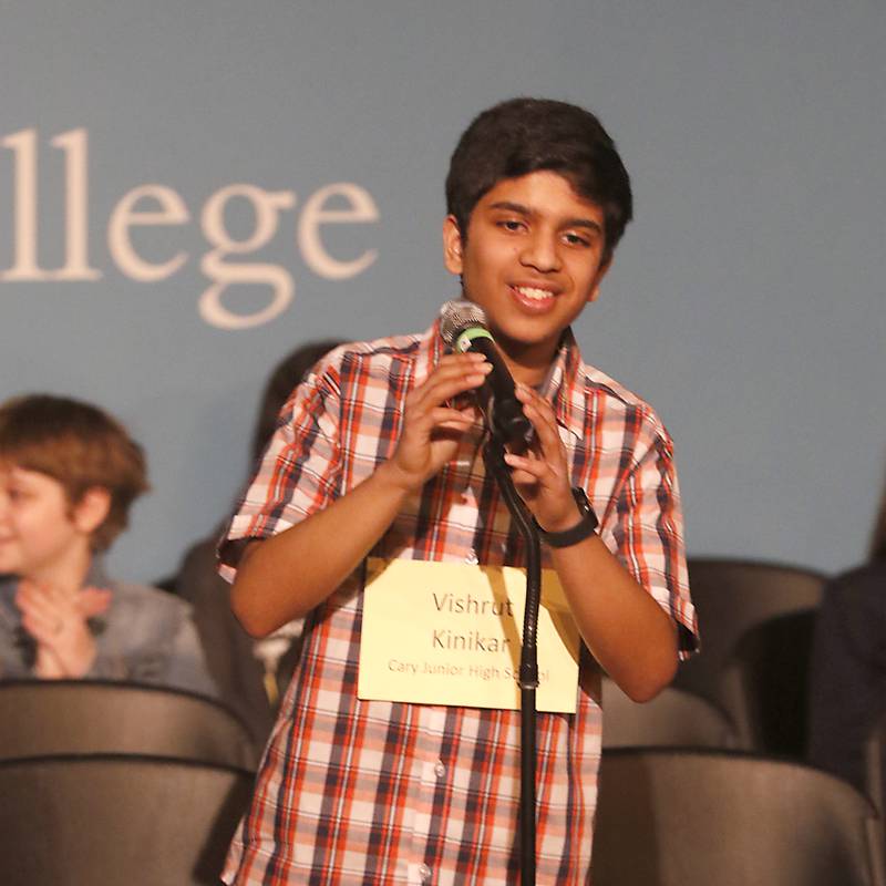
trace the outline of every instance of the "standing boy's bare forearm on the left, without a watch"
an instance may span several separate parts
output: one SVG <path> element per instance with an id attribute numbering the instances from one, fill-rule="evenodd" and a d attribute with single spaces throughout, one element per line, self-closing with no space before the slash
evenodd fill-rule
<path id="1" fill-rule="evenodd" d="M 341 585 L 400 511 L 408 488 L 398 480 L 383 463 L 329 507 L 246 549 L 230 601 L 248 633 L 266 637 Z"/>

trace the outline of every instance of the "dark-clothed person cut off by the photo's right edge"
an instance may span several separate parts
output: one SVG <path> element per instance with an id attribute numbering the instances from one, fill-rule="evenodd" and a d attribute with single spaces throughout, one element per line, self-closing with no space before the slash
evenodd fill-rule
<path id="1" fill-rule="evenodd" d="M 886 715 L 886 491 L 867 563 L 825 588 L 810 667 L 810 761 L 865 789 L 864 744 Z"/>

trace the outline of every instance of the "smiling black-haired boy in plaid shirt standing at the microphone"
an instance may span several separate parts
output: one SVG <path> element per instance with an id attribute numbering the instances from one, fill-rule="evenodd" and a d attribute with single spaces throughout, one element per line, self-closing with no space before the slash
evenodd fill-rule
<path id="1" fill-rule="evenodd" d="M 599 669 L 650 699 L 694 642 L 671 441 L 581 362 L 569 328 L 597 298 L 630 185 L 596 117 L 517 99 L 464 133 L 446 198 L 446 267 L 485 311 L 535 429 L 506 461 L 584 640 L 576 712 L 538 717 L 536 810 L 538 883 L 584 883 Z M 289 401 L 222 547 L 248 631 L 308 617 L 227 882 L 518 882 L 519 711 L 358 698 L 370 553 L 524 563 L 464 405 L 488 371 L 446 353 L 434 323 L 338 349 Z"/>

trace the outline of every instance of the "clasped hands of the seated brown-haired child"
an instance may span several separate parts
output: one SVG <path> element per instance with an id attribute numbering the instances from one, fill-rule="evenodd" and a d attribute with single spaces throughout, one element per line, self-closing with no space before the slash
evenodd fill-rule
<path id="1" fill-rule="evenodd" d="M 22 579 L 16 594 L 16 605 L 22 614 L 22 625 L 38 642 L 34 672 L 38 677 L 83 677 L 95 659 L 95 640 L 86 619 L 104 611 L 110 593 L 102 599 L 90 593 L 83 600 L 45 583 Z"/>

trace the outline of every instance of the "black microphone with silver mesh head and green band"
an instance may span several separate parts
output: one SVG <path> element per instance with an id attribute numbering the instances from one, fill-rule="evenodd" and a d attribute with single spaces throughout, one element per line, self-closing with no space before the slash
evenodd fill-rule
<path id="1" fill-rule="evenodd" d="M 533 436 L 533 426 L 523 414 L 523 404 L 517 400 L 514 379 L 486 326 L 486 315 L 478 305 L 465 299 L 453 299 L 440 309 L 440 334 L 454 351 L 476 351 L 492 363 L 476 391 L 480 409 L 486 426 L 502 443 L 516 453 L 523 453 Z"/>

